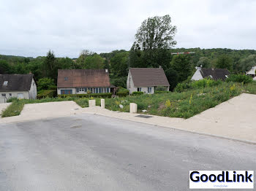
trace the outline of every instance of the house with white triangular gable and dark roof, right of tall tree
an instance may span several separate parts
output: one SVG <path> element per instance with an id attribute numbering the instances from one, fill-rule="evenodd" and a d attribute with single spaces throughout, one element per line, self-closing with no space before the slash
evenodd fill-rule
<path id="1" fill-rule="evenodd" d="M 230 72 L 227 69 L 204 69 L 201 67 L 195 67 L 197 71 L 195 71 L 195 74 L 192 76 L 191 80 L 200 80 L 204 78 L 211 78 L 214 80 L 225 80 Z"/>

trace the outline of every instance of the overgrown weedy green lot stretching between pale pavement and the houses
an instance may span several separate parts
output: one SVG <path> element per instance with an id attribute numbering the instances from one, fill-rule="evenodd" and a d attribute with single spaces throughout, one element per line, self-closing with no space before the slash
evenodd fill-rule
<path id="1" fill-rule="evenodd" d="M 207 81 L 207 80 L 206 80 Z M 208 87 L 211 86 L 211 87 Z M 241 93 L 256 94 L 256 82 L 244 83 L 220 82 L 206 86 L 192 86 L 188 90 L 153 95 L 129 95 L 126 97 L 105 98 L 105 107 L 113 111 L 129 112 L 129 103 L 138 104 L 138 112 L 154 114 L 167 117 L 189 118 L 195 114 L 217 106 Z M 2 117 L 20 114 L 23 104 L 43 103 L 50 101 L 75 101 L 81 107 L 89 106 L 89 99 L 94 98 L 43 98 L 40 100 L 15 100 L 2 114 Z M 20 104 L 17 104 L 20 103 Z M 15 105 L 14 105 L 15 104 Z M 97 106 L 100 105 L 100 98 L 96 98 Z M 16 109 L 18 108 L 18 109 Z M 20 111 L 21 111 L 20 110 Z M 143 112 L 142 110 L 147 110 Z M 8 111 L 8 112 L 7 112 Z"/>

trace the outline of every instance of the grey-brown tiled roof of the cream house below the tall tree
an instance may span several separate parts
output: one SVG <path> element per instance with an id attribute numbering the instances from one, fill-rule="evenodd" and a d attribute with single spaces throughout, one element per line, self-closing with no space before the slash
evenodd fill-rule
<path id="1" fill-rule="evenodd" d="M 135 87 L 170 86 L 162 68 L 131 68 L 129 71 Z"/>

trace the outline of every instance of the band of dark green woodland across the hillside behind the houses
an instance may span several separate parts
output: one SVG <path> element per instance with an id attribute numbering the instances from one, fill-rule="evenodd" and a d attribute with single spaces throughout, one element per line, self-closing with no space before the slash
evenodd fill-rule
<path id="1" fill-rule="evenodd" d="M 189 55 L 171 55 L 171 52 L 195 52 Z M 244 74 L 256 66 L 256 50 L 173 48 L 145 50 L 114 50 L 94 53 L 83 50 L 78 58 L 56 58 L 49 51 L 37 58 L 0 55 L 0 74 L 29 74 L 37 80 L 53 79 L 56 84 L 58 69 L 109 69 L 113 85 L 125 87 L 129 67 L 162 66 L 173 89 L 178 82 L 192 76 L 195 66 L 225 68 L 233 74 Z"/>

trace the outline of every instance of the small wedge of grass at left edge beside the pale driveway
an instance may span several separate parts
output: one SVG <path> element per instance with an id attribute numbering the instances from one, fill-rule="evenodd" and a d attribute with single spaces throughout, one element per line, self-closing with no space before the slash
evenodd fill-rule
<path id="1" fill-rule="evenodd" d="M 11 117 L 19 115 L 23 109 L 23 106 L 23 101 L 13 101 L 12 104 L 7 107 L 7 109 L 4 109 L 4 111 L 1 112 L 1 117 Z"/>

